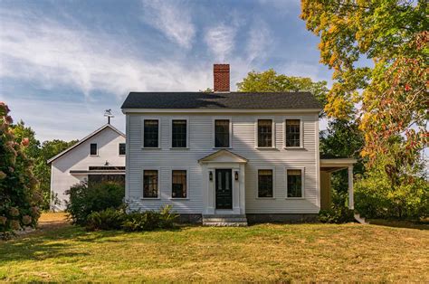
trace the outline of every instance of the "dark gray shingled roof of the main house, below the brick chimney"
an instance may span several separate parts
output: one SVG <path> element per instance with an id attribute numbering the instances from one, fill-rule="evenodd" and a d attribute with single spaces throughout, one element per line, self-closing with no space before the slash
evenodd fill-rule
<path id="1" fill-rule="evenodd" d="M 310 92 L 130 92 L 122 109 L 321 109 Z"/>

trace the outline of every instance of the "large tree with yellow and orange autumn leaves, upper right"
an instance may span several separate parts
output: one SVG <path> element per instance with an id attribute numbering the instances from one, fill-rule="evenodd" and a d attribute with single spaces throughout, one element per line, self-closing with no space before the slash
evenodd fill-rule
<path id="1" fill-rule="evenodd" d="M 358 115 L 368 167 L 402 186 L 429 137 L 427 2 L 302 0 L 301 11 L 320 37 L 320 62 L 334 70 L 326 113 Z M 374 67 L 359 67 L 363 57 Z"/>

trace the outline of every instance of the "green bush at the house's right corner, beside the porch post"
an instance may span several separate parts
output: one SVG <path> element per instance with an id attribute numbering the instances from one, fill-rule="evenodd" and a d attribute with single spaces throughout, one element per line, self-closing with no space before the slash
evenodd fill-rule
<path id="1" fill-rule="evenodd" d="M 320 210 L 319 222 L 344 223 L 354 222 L 354 211 L 348 209 L 348 194 L 343 192 L 332 191 L 332 204 L 328 210 Z"/>

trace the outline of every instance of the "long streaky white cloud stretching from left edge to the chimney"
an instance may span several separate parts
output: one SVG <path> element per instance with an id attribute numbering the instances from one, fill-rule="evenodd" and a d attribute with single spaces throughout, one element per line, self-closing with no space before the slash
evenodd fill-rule
<path id="1" fill-rule="evenodd" d="M 28 15 L 27 15 L 28 16 Z M 0 29 L 0 78 L 40 83 L 43 88 L 73 86 L 123 98 L 129 90 L 200 90 L 209 86 L 206 66 L 189 69 L 165 56 L 150 62 L 136 57 L 103 33 L 75 30 L 48 20 L 7 16 Z"/>

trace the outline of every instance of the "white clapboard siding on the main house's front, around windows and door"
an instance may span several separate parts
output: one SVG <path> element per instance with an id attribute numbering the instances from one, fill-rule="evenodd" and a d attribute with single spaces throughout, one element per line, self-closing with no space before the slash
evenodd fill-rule
<path id="1" fill-rule="evenodd" d="M 245 166 L 245 207 L 246 213 L 318 213 L 318 115 L 298 116 L 303 122 L 303 148 L 284 149 L 284 120 L 288 113 L 276 114 L 228 114 L 215 117 L 213 114 L 127 114 L 128 136 L 128 196 L 131 210 L 157 210 L 161 205 L 173 204 L 178 213 L 203 212 L 203 176 L 198 159 L 216 151 L 213 142 L 213 120 L 231 118 L 233 122 L 233 141 L 230 149 L 235 154 L 248 159 Z M 292 115 L 291 115 L 292 116 Z M 297 115 L 293 115 L 297 117 Z M 159 149 L 142 148 L 143 118 L 159 118 L 161 128 L 161 147 Z M 187 118 L 189 140 L 186 149 L 171 149 L 172 118 Z M 275 122 L 275 149 L 255 148 L 255 122 L 257 118 L 272 118 Z M 172 200 L 170 175 L 172 168 L 189 170 L 189 188 L 187 200 Z M 257 169 L 270 167 L 275 169 L 274 198 L 257 198 Z M 305 198 L 286 199 L 286 168 L 304 168 Z M 142 199 L 143 169 L 160 170 L 160 198 Z"/>

